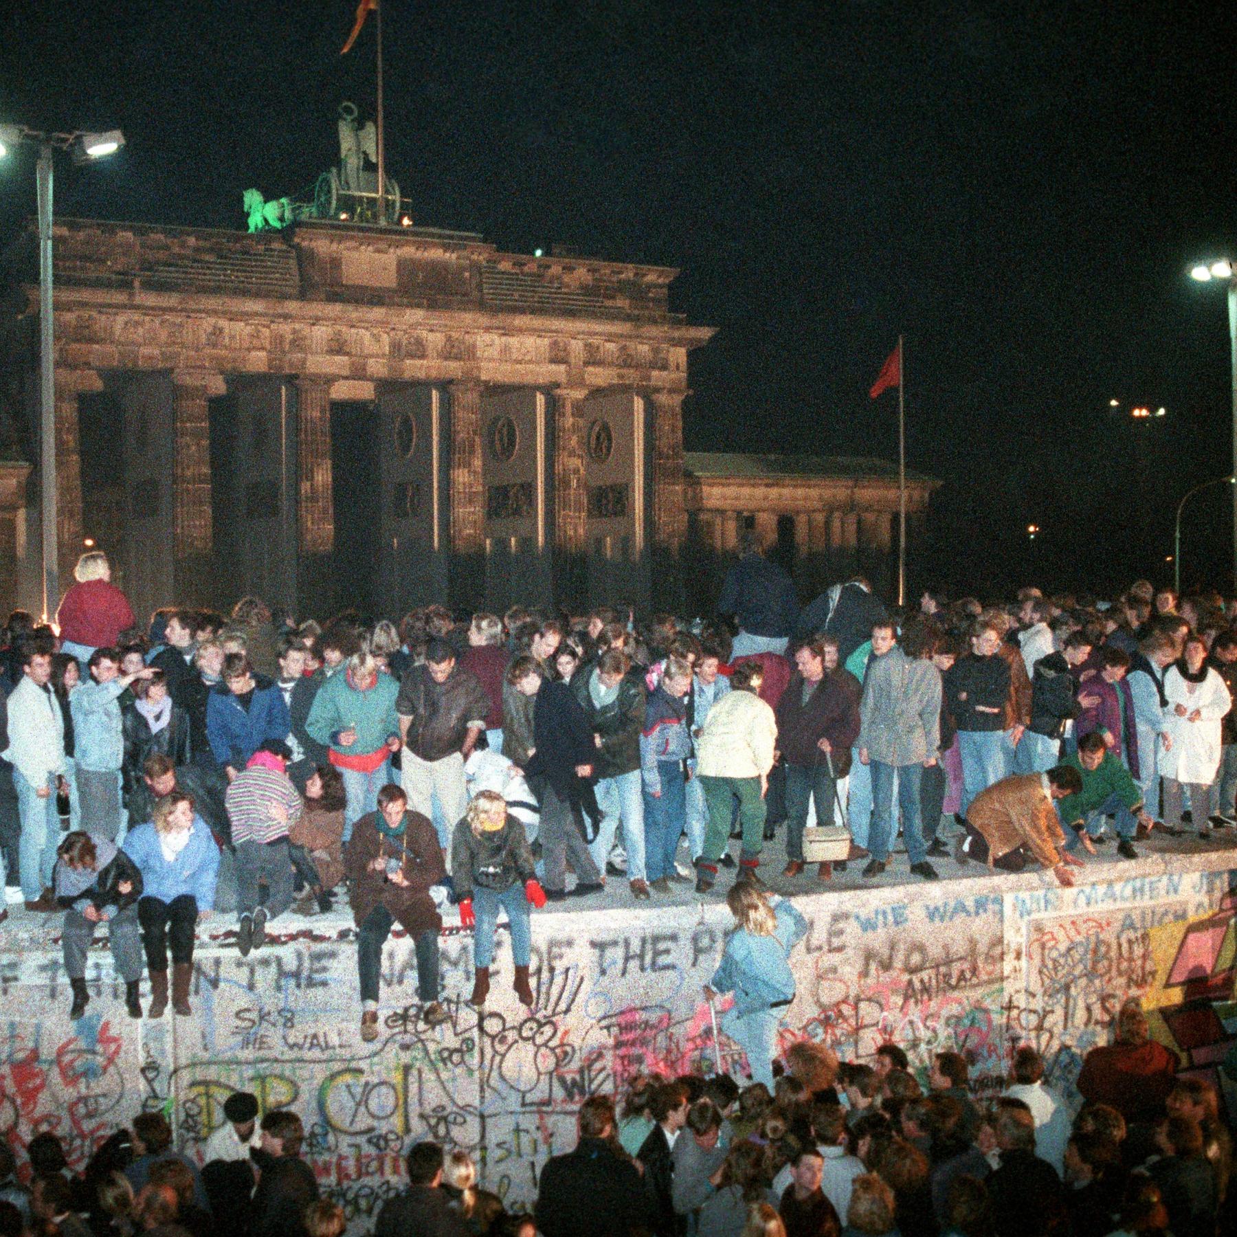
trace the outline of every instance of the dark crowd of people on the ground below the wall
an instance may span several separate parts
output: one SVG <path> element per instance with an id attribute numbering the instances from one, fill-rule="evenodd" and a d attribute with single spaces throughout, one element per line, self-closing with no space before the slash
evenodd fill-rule
<path id="1" fill-rule="evenodd" d="M 353 1232 L 374 1237 L 1220 1237 L 1237 1231 L 1233 1144 L 1215 1085 L 1126 1001 L 1074 1110 L 1030 1047 L 1004 1085 L 967 1059 L 927 1069 L 882 1044 L 840 1063 L 789 1044 L 772 1086 L 640 1074 L 584 1101 L 578 1142 L 541 1165 L 531 1212 L 479 1186 L 485 1147 L 416 1142 Z M 1226 1064 L 1225 1069 L 1231 1066 Z M 920 1084 L 920 1077 L 923 1084 Z M 1237 1070 L 1235 1070 L 1237 1079 Z M 1071 1089 L 1072 1090 L 1072 1089 Z M 74 1175 L 53 1133 L 0 1141 L 0 1237 L 339 1237 L 345 1211 L 303 1158 L 301 1118 L 230 1094 L 193 1155 L 162 1112 Z M 557 1148 L 555 1148 L 557 1149 Z M 334 1154 L 332 1155 L 334 1159 Z M 200 1165 L 200 1166 L 199 1166 Z M 340 1196 L 345 1196 L 340 1191 Z"/>

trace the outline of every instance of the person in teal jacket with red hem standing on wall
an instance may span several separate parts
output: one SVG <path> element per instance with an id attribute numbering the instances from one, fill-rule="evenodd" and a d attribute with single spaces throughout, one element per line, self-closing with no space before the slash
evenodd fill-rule
<path id="1" fill-rule="evenodd" d="M 356 821 L 377 810 L 379 790 L 391 781 L 391 753 L 400 750 L 398 693 L 396 680 L 362 648 L 318 688 L 306 719 L 306 732 L 329 748 L 328 760 L 344 779 L 344 846 Z"/>

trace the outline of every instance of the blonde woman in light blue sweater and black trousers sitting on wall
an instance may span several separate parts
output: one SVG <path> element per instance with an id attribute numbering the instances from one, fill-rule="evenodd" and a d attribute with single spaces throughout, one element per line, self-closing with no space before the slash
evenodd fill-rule
<path id="1" fill-rule="evenodd" d="M 172 1008 L 189 1007 L 193 976 L 193 930 L 215 904 L 219 847 L 193 810 L 193 799 L 179 790 L 158 799 L 155 820 L 125 837 L 125 852 L 142 873 L 137 919 L 151 978 L 148 1018 L 167 1008 L 167 949 L 172 946 Z"/>

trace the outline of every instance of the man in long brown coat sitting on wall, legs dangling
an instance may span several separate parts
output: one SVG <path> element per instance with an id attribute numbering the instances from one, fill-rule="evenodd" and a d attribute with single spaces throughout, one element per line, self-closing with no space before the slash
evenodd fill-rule
<path id="1" fill-rule="evenodd" d="M 443 920 L 430 888 L 447 876 L 438 835 L 429 819 L 408 810 L 403 789 L 379 790 L 376 811 L 356 821 L 344 856 L 356 923 L 356 970 L 361 988 L 361 1039 L 379 1038 L 382 945 L 396 923 L 413 941 L 417 996 L 427 1025 L 448 1018 L 438 1001 L 438 934 Z"/>

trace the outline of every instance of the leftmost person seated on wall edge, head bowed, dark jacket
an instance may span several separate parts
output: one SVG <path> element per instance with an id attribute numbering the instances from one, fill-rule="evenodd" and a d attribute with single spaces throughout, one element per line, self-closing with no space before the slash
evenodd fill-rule
<path id="1" fill-rule="evenodd" d="M 68 834 L 56 854 L 53 888 L 57 903 L 66 909 L 62 946 L 64 972 L 73 990 L 69 1017 L 80 1018 L 90 1002 L 85 955 L 95 925 L 106 923 L 113 962 L 125 981 L 125 1009 L 130 1018 L 141 1018 L 142 943 L 137 927 L 141 872 L 115 842 L 80 829 Z"/>

